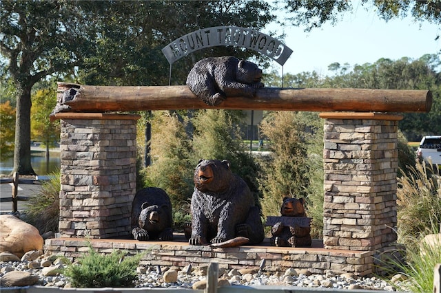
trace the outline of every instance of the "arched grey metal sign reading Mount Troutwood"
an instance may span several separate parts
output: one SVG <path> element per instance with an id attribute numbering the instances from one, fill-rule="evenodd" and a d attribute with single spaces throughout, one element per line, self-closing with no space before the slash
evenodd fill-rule
<path id="1" fill-rule="evenodd" d="M 188 54 L 207 47 L 238 46 L 264 54 L 284 65 L 292 50 L 267 34 L 237 26 L 216 26 L 196 30 L 163 47 L 163 54 L 172 65 Z"/>

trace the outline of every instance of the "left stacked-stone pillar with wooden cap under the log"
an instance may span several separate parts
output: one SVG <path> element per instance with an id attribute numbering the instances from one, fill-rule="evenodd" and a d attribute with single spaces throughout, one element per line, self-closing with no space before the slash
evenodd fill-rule
<path id="1" fill-rule="evenodd" d="M 139 115 L 57 113 L 61 119 L 61 237 L 130 235 Z"/>

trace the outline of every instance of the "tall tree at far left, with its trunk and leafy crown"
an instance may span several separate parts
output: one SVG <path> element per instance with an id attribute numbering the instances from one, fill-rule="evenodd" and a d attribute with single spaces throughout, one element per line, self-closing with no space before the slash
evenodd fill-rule
<path id="1" fill-rule="evenodd" d="M 32 175 L 30 162 L 31 89 L 45 76 L 74 67 L 78 17 L 69 1 L 0 2 L 1 55 L 17 89 L 14 169 Z M 76 40 L 74 40 L 76 39 Z"/>

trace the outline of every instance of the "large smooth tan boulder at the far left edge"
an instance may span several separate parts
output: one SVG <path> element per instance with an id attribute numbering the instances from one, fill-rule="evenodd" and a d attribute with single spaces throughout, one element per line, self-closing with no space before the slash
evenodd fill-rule
<path id="1" fill-rule="evenodd" d="M 23 257 L 30 250 L 43 249 L 43 237 L 34 226 L 12 215 L 0 215 L 0 252 Z"/>

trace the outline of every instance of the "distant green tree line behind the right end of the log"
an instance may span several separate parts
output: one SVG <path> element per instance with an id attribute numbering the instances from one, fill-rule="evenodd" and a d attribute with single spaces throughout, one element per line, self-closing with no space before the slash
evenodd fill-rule
<path id="1" fill-rule="evenodd" d="M 409 141 L 422 135 L 441 133 L 441 73 L 440 57 L 427 54 L 418 59 L 403 57 L 396 61 L 380 58 L 375 63 L 340 65 L 332 63 L 330 76 L 317 72 L 285 74 L 285 87 L 352 87 L 360 89 L 429 89 L 433 103 L 429 113 L 403 113 L 400 129 Z M 281 78 L 275 72 L 265 76 L 269 86 L 280 87 Z"/>

